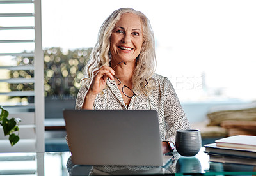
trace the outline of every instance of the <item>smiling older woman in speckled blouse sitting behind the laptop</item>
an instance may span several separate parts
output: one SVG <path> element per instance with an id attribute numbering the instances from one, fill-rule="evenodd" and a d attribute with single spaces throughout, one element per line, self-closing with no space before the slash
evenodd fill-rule
<path id="1" fill-rule="evenodd" d="M 154 34 L 148 18 L 132 8 L 114 11 L 102 24 L 77 109 L 157 110 L 163 153 L 178 129 L 189 129 L 172 84 L 157 75 Z"/>

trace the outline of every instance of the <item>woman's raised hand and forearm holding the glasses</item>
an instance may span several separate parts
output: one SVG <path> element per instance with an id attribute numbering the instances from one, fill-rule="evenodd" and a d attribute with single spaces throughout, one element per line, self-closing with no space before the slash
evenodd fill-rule
<path id="1" fill-rule="evenodd" d="M 113 80 L 115 71 L 109 66 L 102 66 L 99 70 L 93 72 L 92 81 L 89 85 L 89 89 L 84 98 L 83 109 L 92 109 L 94 100 L 97 97 L 97 94 L 102 92 L 104 89 L 108 77 Z"/>

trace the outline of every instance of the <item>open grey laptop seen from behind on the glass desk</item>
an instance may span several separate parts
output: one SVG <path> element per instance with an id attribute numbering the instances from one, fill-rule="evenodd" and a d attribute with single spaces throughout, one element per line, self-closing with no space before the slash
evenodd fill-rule
<path id="1" fill-rule="evenodd" d="M 72 162 L 164 166 L 155 110 L 63 110 Z"/>

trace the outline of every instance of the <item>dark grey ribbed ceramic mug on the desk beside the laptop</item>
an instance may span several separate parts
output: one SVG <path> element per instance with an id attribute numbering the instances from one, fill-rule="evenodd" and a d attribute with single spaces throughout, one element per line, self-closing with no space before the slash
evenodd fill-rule
<path id="1" fill-rule="evenodd" d="M 195 156 L 202 145 L 200 130 L 186 129 L 176 131 L 176 150 L 181 156 Z"/>

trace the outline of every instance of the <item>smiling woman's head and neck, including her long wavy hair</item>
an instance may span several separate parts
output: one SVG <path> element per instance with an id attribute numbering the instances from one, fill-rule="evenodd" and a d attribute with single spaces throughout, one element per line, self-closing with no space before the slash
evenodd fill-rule
<path id="1" fill-rule="evenodd" d="M 125 62 L 125 65 L 120 62 Z M 86 66 L 84 83 L 91 81 L 93 73 L 101 71 L 100 66 L 109 65 L 112 67 L 111 71 L 115 68 L 115 75 L 127 87 L 143 94 L 148 94 L 152 90 L 150 77 L 156 69 L 154 34 L 148 18 L 140 11 L 121 8 L 104 21 L 100 27 L 97 44 Z M 106 68 L 108 70 L 108 67 Z M 104 75 L 113 79 L 113 75 L 109 73 Z M 118 88 L 121 90 L 121 85 L 118 85 Z M 131 99 L 127 99 L 124 94 L 122 96 L 128 105 Z"/>

